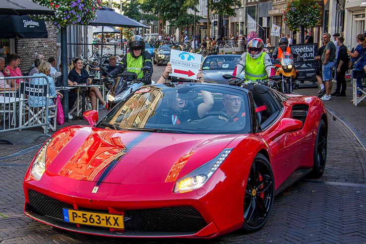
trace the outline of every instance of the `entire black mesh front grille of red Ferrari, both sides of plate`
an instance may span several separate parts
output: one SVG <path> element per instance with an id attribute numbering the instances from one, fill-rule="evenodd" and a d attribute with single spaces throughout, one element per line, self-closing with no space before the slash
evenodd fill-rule
<path id="1" fill-rule="evenodd" d="M 73 206 L 37 191 L 29 190 L 29 209 L 39 215 L 63 221 L 63 208 Z M 85 211 L 106 212 L 80 208 Z M 197 232 L 207 225 L 201 214 L 193 207 L 178 206 L 128 210 L 124 212 L 125 231 L 140 232 Z M 85 226 L 85 228 L 97 228 Z"/>

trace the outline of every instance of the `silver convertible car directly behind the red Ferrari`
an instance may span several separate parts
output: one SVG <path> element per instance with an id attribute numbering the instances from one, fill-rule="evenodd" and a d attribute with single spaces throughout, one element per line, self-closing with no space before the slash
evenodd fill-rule
<path id="1" fill-rule="evenodd" d="M 202 62 L 203 79 L 209 83 L 229 84 L 222 76 L 233 74 L 241 55 L 223 54 L 207 56 Z M 244 77 L 244 72 L 239 77 Z"/>

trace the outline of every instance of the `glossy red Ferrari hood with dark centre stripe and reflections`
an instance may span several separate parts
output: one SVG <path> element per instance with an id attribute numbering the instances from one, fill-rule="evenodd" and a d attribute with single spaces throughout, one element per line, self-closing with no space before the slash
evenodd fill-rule
<path id="1" fill-rule="evenodd" d="M 175 182 L 237 136 L 66 127 L 47 148 L 46 172 L 100 183 Z"/>

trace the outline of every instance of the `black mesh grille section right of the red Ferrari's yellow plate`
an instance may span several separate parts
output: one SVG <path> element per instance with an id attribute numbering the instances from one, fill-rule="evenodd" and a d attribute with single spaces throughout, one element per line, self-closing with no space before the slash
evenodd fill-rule
<path id="1" fill-rule="evenodd" d="M 206 226 L 201 214 L 190 206 L 130 210 L 125 211 L 125 218 L 126 229 L 131 231 L 197 232 Z"/>

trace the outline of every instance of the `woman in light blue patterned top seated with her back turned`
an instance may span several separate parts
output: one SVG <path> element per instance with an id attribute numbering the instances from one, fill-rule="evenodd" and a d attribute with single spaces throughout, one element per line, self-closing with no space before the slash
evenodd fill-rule
<path id="1" fill-rule="evenodd" d="M 39 76 L 39 75 L 43 74 L 43 75 L 47 76 L 48 84 L 49 84 L 50 97 L 56 97 L 56 95 L 59 95 L 60 98 L 62 98 L 63 97 L 62 94 L 60 92 L 56 91 L 54 79 L 50 76 L 51 67 L 52 67 L 51 63 L 49 63 L 47 61 L 42 61 L 41 64 L 38 66 L 39 73 L 35 73 L 33 75 L 34 76 L 36 76 L 36 75 Z M 32 85 L 47 85 L 47 79 L 45 79 L 45 78 L 31 78 L 30 83 Z M 45 107 L 46 104 L 47 104 L 47 98 L 46 97 L 39 97 L 39 96 L 29 95 L 28 105 L 30 107 L 34 107 L 34 108 Z M 50 98 L 49 105 L 54 105 L 54 99 Z"/>

